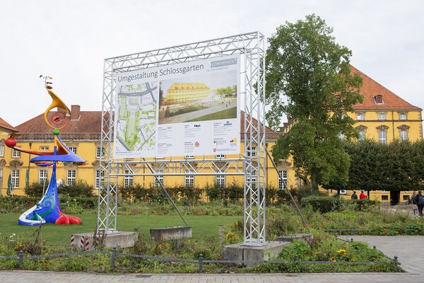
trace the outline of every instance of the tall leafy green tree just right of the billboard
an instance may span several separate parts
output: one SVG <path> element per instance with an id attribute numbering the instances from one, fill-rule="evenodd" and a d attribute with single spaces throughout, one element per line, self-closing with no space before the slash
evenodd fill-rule
<path id="1" fill-rule="evenodd" d="M 312 189 L 331 180 L 346 183 L 349 156 L 341 135 L 356 136 L 354 120 L 345 112 L 362 101 L 359 75 L 351 74 L 351 50 L 338 45 L 333 29 L 319 16 L 277 28 L 266 54 L 267 120 L 278 127 L 283 114 L 290 131 L 273 146 L 276 161 L 293 156 L 300 178 Z"/>

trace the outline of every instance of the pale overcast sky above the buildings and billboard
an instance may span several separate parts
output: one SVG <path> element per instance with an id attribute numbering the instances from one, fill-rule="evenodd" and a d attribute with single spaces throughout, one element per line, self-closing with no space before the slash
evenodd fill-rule
<path id="1" fill-rule="evenodd" d="M 51 102 L 40 74 L 81 110 L 100 110 L 103 59 L 259 30 L 316 13 L 351 63 L 424 108 L 424 1 L 0 0 L 0 117 L 16 126 Z"/>

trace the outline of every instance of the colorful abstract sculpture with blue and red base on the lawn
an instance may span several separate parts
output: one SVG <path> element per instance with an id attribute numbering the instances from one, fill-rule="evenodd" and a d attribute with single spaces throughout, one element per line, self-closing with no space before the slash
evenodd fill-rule
<path id="1" fill-rule="evenodd" d="M 47 108 L 44 115 L 47 125 L 53 129 L 53 151 L 35 151 L 32 149 L 22 149 L 16 146 L 16 139 L 13 137 L 6 139 L 5 144 L 6 146 L 16 149 L 17 151 L 37 155 L 36 157 L 31 158 L 30 162 L 37 164 L 37 166 L 52 166 L 52 177 L 50 178 L 47 191 L 45 192 L 45 195 L 43 195 L 40 202 L 21 214 L 18 219 L 18 224 L 81 224 L 82 221 L 80 218 L 76 216 L 69 216 L 61 212 L 57 192 L 56 164 L 58 162 L 63 162 L 64 164 L 73 164 L 79 166 L 85 165 L 86 161 L 78 155 L 74 154 L 73 151 L 71 151 L 59 138 L 59 129 L 62 129 L 66 126 L 71 111 L 61 101 L 56 93 L 52 91 L 52 83 L 49 81 L 49 79 L 52 79 L 52 77 L 40 76 L 40 78 L 45 79 L 45 88 L 53 100 L 52 104 L 49 105 L 49 108 Z M 58 108 L 57 112 L 54 112 L 49 117 L 50 110 L 56 107 Z"/>

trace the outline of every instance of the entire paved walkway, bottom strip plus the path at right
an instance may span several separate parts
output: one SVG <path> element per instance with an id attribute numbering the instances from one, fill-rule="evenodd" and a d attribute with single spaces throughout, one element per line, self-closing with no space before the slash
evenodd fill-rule
<path id="1" fill-rule="evenodd" d="M 406 273 L 228 274 L 228 275 L 97 275 L 73 272 L 0 271 L 1 283 L 418 283 L 424 282 L 424 236 L 341 236 L 377 246 L 399 257 Z"/>

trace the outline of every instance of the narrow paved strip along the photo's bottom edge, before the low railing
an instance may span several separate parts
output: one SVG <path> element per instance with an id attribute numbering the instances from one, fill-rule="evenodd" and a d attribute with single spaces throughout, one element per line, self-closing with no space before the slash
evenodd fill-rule
<path id="1" fill-rule="evenodd" d="M 423 277 L 402 273 L 330 273 L 282 275 L 93 275 L 68 272 L 0 272 L 2 283 L 418 283 Z"/>

